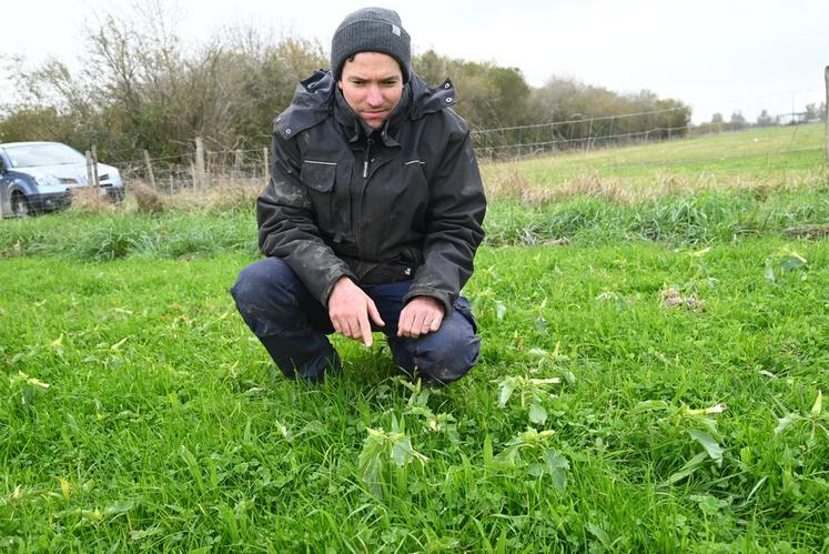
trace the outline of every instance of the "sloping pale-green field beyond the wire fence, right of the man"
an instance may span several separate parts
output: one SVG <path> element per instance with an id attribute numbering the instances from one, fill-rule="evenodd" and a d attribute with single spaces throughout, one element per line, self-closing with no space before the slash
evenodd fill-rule
<path id="1" fill-rule="evenodd" d="M 768 127 L 626 148 L 493 163 L 496 192 L 530 200 L 593 195 L 630 203 L 700 191 L 820 187 L 826 183 L 826 127 Z M 518 189 L 518 190 L 515 190 Z M 542 191 L 539 191 L 542 189 Z"/>

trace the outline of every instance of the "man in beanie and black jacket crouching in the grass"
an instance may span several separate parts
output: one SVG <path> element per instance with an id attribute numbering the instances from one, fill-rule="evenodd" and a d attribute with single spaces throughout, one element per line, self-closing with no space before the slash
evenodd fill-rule
<path id="1" fill-rule="evenodd" d="M 271 182 L 256 204 L 259 244 L 232 289 L 242 318 L 287 377 L 338 370 L 327 339 L 373 342 L 439 385 L 477 362 L 461 289 L 483 240 L 486 199 L 449 81 L 411 70 L 396 12 L 357 10 L 331 69 L 302 81 L 274 122 Z"/>

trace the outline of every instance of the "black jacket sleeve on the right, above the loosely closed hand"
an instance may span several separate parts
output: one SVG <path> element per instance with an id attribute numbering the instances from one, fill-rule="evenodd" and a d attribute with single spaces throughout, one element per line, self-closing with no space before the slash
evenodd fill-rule
<path id="1" fill-rule="evenodd" d="M 473 259 L 484 239 L 486 198 L 468 130 L 454 132 L 429 183 L 424 262 L 404 302 L 414 296 L 439 300 L 448 315 L 473 271 Z"/>

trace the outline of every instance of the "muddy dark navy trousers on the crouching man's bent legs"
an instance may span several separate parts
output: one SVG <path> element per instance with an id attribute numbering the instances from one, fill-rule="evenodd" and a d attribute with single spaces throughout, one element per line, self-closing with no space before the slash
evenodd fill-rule
<path id="1" fill-rule="evenodd" d="M 385 322 L 384 328 L 373 330 L 385 333 L 395 363 L 410 376 L 433 385 L 461 379 L 481 352 L 469 303 L 458 298 L 435 333 L 398 338 L 402 299 L 411 285 L 410 280 L 361 286 Z M 250 264 L 239 274 L 231 294 L 242 319 L 285 376 L 322 381 L 326 369 L 340 369 L 340 357 L 326 336 L 334 332 L 327 309 L 285 262 L 265 258 Z"/>

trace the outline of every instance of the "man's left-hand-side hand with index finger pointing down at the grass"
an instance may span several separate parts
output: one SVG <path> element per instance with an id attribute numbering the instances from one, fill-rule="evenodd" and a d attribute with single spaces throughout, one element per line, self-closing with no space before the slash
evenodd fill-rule
<path id="1" fill-rule="evenodd" d="M 371 346 L 372 321 L 385 325 L 374 301 L 347 276 L 340 278 L 328 296 L 328 318 L 337 333 Z"/>

